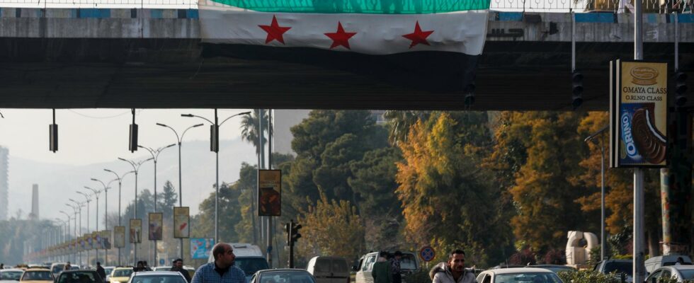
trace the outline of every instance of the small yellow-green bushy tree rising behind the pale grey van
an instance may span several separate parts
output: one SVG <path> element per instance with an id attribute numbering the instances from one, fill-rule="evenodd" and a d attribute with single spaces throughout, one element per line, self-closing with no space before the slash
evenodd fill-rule
<path id="1" fill-rule="evenodd" d="M 320 200 L 307 210 L 302 209 L 301 214 L 299 257 L 307 260 L 314 255 L 336 255 L 352 259 L 363 252 L 363 221 L 348 200 L 328 200 L 321 193 Z"/>

